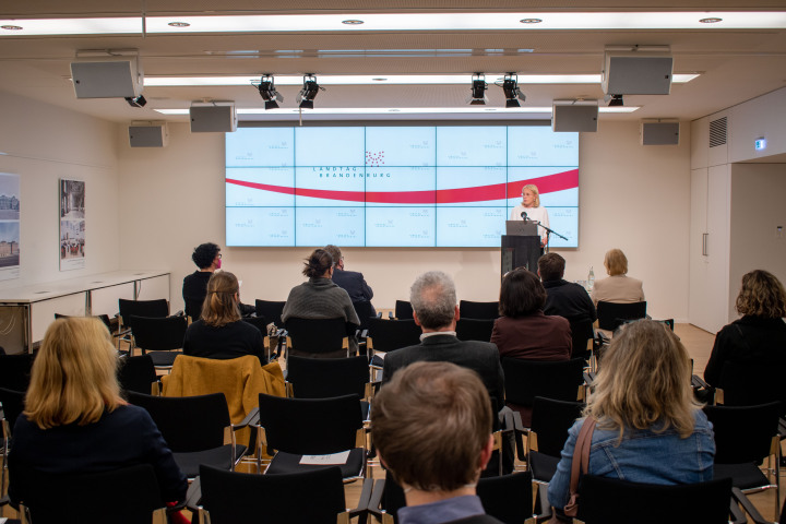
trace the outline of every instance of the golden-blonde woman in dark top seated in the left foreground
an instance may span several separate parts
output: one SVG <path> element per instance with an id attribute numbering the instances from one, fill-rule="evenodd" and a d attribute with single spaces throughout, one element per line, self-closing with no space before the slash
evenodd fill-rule
<path id="1" fill-rule="evenodd" d="M 78 474 L 134 464 L 153 466 L 165 501 L 183 500 L 186 476 L 147 412 L 120 397 L 117 362 L 100 321 L 70 318 L 49 326 L 14 426 L 9 454 L 13 501 L 25 498 L 25 487 L 14 486 L 14 471 Z"/>

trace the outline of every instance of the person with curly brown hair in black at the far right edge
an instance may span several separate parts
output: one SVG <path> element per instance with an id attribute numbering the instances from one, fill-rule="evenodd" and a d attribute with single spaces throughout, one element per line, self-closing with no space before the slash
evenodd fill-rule
<path id="1" fill-rule="evenodd" d="M 755 270 L 742 276 L 737 295 L 737 312 L 742 315 L 715 336 L 704 380 L 719 385 L 720 376 L 734 374 L 742 362 L 771 365 L 786 371 L 786 291 L 770 272 Z M 786 379 L 786 377 L 782 377 Z M 762 403 L 769 402 L 762 398 Z"/>

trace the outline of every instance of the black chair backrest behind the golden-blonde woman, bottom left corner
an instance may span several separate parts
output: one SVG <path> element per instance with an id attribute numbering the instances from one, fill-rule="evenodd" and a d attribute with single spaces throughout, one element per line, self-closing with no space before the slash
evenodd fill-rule
<path id="1" fill-rule="evenodd" d="M 13 472 L 13 483 L 19 502 L 29 509 L 36 524 L 150 524 L 152 512 L 164 508 L 150 464 L 78 475 L 20 467 Z"/>

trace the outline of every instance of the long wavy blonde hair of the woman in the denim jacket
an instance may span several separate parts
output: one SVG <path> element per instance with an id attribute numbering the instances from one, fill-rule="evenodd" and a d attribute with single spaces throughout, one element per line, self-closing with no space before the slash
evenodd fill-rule
<path id="1" fill-rule="evenodd" d="M 584 415 L 603 429 L 618 429 L 620 441 L 626 429 L 674 427 L 686 438 L 700 407 L 690 380 L 690 357 L 679 338 L 660 322 L 633 322 L 604 355 Z"/>

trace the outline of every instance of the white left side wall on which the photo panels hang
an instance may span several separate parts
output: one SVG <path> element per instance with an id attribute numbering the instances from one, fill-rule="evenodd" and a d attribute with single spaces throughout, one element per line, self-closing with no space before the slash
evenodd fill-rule
<path id="1" fill-rule="evenodd" d="M 122 103 L 122 100 L 120 100 Z M 0 171 L 20 176 L 20 278 L 0 289 L 119 267 L 117 126 L 0 93 Z M 85 181 L 85 267 L 60 272 L 59 179 Z"/>

